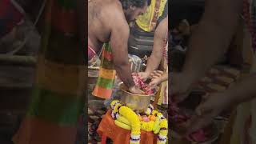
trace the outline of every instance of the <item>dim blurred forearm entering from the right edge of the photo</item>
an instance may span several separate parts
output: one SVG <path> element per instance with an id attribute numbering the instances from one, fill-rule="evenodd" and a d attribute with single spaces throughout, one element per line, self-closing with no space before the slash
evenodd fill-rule
<path id="1" fill-rule="evenodd" d="M 230 97 L 231 105 L 238 105 L 256 98 L 255 85 L 256 74 L 251 74 L 223 93 Z"/>

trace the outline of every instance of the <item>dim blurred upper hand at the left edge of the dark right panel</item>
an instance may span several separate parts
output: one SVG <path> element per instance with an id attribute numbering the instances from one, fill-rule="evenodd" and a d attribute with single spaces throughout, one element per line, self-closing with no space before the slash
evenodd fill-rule
<path id="1" fill-rule="evenodd" d="M 173 102 L 182 102 L 190 94 L 193 82 L 186 74 L 170 74 L 170 96 Z"/>

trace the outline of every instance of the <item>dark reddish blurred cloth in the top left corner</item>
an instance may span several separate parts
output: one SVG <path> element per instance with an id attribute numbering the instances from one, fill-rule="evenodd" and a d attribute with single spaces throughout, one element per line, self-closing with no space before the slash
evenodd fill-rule
<path id="1" fill-rule="evenodd" d="M 10 33 L 19 22 L 22 22 L 23 14 L 10 0 L 0 1 L 0 38 Z"/>

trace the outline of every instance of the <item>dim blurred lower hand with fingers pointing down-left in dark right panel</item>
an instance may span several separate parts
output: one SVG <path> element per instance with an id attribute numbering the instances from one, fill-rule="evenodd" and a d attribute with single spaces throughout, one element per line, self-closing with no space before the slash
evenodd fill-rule
<path id="1" fill-rule="evenodd" d="M 230 95 L 224 93 L 211 94 L 205 102 L 197 107 L 196 114 L 186 122 L 186 135 L 209 126 L 214 117 L 231 106 L 231 98 Z"/>

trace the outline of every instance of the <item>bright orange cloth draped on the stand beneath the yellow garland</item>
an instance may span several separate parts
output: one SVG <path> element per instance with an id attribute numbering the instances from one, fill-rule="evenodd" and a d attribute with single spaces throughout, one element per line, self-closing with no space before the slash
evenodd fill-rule
<path id="1" fill-rule="evenodd" d="M 114 124 L 114 119 L 111 117 L 111 110 L 109 110 L 102 118 L 102 122 L 99 124 L 97 132 L 100 136 L 105 134 L 107 138 L 110 138 L 114 142 L 114 144 L 129 144 L 130 141 L 130 130 L 122 129 Z M 140 144 L 156 144 L 157 140 L 158 134 L 141 130 Z"/>

